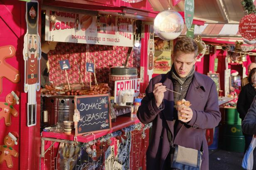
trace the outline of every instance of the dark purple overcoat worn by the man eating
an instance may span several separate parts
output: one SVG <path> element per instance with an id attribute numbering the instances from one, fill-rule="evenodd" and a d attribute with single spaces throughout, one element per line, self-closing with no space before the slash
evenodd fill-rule
<path id="1" fill-rule="evenodd" d="M 198 72 L 187 91 L 185 99 L 192 104 L 193 117 L 188 123 L 178 122 L 174 129 L 173 92 L 166 91 L 162 102 L 163 109 L 156 105 L 153 89 L 156 83 L 162 82 L 167 89 L 173 90 L 170 72 L 161 74 L 150 80 L 146 89 L 146 96 L 141 101 L 137 116 L 142 123 L 153 122 L 152 136 L 147 151 L 147 170 L 163 169 L 165 158 L 170 151 L 167 130 L 170 129 L 175 139 L 174 144 L 200 150 L 203 143 L 201 170 L 209 169 L 209 153 L 205 137 L 206 129 L 216 127 L 221 120 L 219 112 L 218 94 L 214 81 Z M 179 130 L 177 130 L 179 129 Z"/>

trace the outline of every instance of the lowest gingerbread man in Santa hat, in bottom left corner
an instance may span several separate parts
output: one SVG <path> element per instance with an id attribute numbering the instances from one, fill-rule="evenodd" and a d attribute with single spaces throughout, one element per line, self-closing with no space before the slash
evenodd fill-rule
<path id="1" fill-rule="evenodd" d="M 12 146 L 17 145 L 19 134 L 17 132 L 9 132 L 4 138 L 4 145 L 0 145 L 0 164 L 5 160 L 8 168 L 12 168 L 12 157 L 17 158 L 19 153 Z"/>

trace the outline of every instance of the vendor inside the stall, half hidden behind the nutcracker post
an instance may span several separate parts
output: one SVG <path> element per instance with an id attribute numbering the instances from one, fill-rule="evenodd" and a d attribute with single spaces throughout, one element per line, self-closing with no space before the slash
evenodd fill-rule
<path id="1" fill-rule="evenodd" d="M 45 41 L 44 30 L 42 30 L 41 35 L 41 87 L 45 88 L 45 85 L 49 84 L 49 61 L 48 61 L 48 53 L 50 50 L 54 50 L 56 48 L 56 41 Z"/>

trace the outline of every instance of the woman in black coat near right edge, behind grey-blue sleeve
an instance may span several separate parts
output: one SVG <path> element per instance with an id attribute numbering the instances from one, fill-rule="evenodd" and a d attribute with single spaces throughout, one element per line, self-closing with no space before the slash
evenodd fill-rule
<path id="1" fill-rule="evenodd" d="M 239 117 L 241 120 L 244 120 L 244 117 L 246 116 L 246 113 L 248 112 L 251 103 L 254 100 L 254 97 L 256 96 L 256 68 L 252 69 L 248 76 L 249 84 L 246 84 L 244 87 L 242 87 L 241 92 L 238 96 L 238 101 L 236 104 L 236 109 L 239 113 Z M 244 153 L 246 152 L 248 146 L 251 143 L 252 135 L 244 133 L 245 138 L 245 147 L 244 147 Z"/>

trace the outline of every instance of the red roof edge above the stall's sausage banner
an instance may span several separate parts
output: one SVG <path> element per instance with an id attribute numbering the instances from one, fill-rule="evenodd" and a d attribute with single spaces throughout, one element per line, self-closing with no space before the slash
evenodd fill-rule
<path id="1" fill-rule="evenodd" d="M 101 14 L 126 16 L 133 19 L 153 22 L 159 12 L 153 11 L 148 0 L 127 3 L 122 0 L 44 0 L 44 6 L 66 7 L 81 10 L 98 11 Z M 180 12 L 184 19 L 184 12 Z M 204 21 L 193 19 L 193 24 L 204 25 Z"/>

